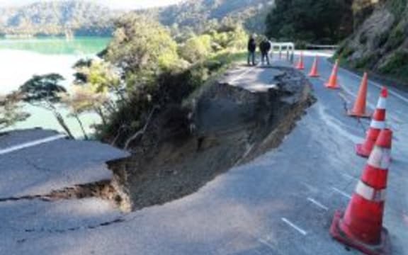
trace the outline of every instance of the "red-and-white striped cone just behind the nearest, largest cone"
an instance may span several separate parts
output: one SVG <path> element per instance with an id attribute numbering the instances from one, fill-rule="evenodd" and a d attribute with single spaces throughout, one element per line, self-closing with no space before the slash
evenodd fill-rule
<path id="1" fill-rule="evenodd" d="M 365 137 L 363 144 L 356 145 L 356 153 L 361 157 L 370 156 L 371 151 L 375 145 L 375 141 L 380 134 L 380 131 L 385 128 L 385 115 L 387 108 L 387 88 L 383 87 L 380 98 L 378 99 L 377 108 L 375 109 L 373 119 L 371 120 L 370 129 Z"/>

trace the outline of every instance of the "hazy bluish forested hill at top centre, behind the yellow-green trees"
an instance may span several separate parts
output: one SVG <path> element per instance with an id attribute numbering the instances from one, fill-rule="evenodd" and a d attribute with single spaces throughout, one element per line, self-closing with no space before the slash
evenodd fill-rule
<path id="1" fill-rule="evenodd" d="M 139 11 L 155 16 L 166 26 L 190 27 L 196 31 L 209 23 L 242 22 L 250 31 L 263 32 L 273 0 L 187 0 L 181 4 Z"/>

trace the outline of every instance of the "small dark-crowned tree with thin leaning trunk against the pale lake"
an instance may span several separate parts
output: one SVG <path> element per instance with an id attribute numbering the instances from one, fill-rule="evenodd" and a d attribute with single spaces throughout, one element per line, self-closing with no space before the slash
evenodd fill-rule
<path id="1" fill-rule="evenodd" d="M 72 139 L 74 136 L 69 130 L 62 115 L 57 111 L 55 103 L 61 100 L 61 94 L 67 92 L 60 82 L 64 80 L 60 74 L 34 75 L 25 84 L 20 86 L 19 93 L 23 101 L 51 111 L 58 123 Z"/>

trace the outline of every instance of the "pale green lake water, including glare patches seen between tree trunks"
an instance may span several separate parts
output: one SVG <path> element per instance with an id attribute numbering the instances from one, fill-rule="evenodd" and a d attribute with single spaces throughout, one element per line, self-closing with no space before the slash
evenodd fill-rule
<path id="1" fill-rule="evenodd" d="M 55 72 L 64 78 L 64 86 L 69 89 L 73 81 L 72 66 L 81 58 L 95 57 L 105 49 L 109 38 L 76 38 L 67 41 L 64 38 L 35 38 L 35 39 L 3 39 L 0 40 L 0 94 L 16 91 L 34 74 L 48 74 Z M 25 122 L 10 128 L 46 128 L 62 131 L 54 116 L 42 108 L 26 105 L 25 111 L 31 114 Z M 82 132 L 77 121 L 69 116 L 69 112 L 60 108 L 67 125 L 76 137 Z M 101 123 L 95 114 L 81 115 L 86 132 L 91 134 L 92 125 Z M 0 131 L 1 132 L 1 131 Z"/>

